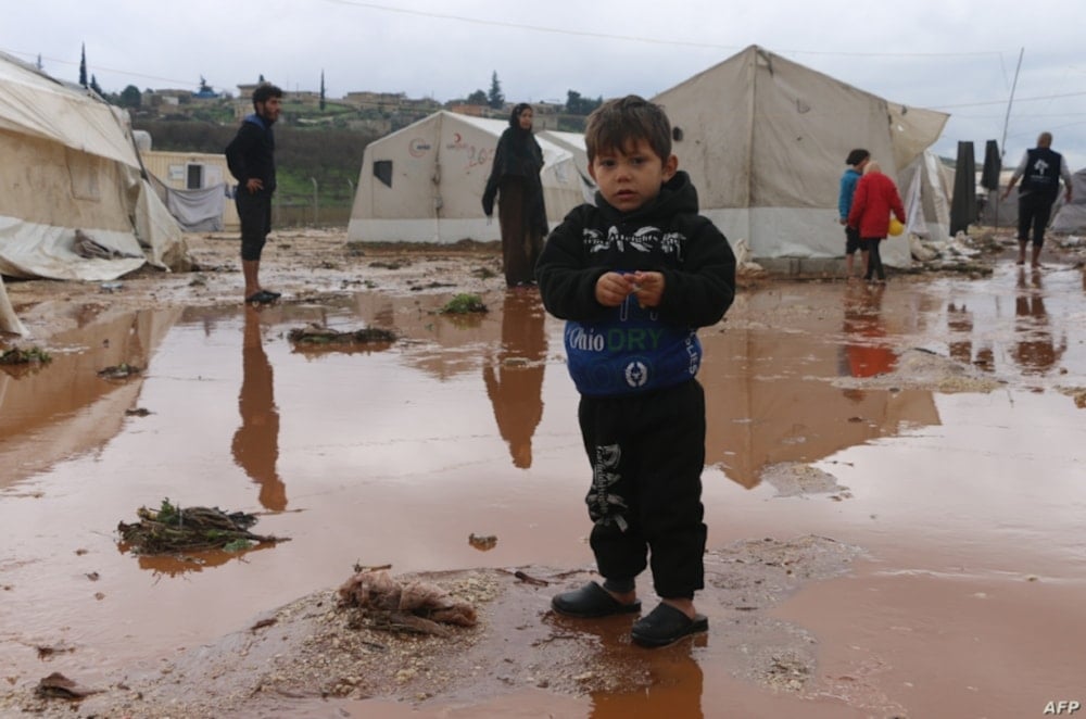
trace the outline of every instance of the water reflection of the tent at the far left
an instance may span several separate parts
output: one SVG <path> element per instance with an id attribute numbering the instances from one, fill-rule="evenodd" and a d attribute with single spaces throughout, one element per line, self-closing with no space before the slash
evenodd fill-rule
<path id="1" fill-rule="evenodd" d="M 58 310 L 61 312 L 61 310 Z M 18 379 L 0 373 L 0 485 L 17 482 L 52 463 L 112 439 L 132 408 L 142 380 L 114 382 L 98 376 L 128 363 L 146 368 L 180 311 L 116 314 L 61 332 L 51 362 Z"/>

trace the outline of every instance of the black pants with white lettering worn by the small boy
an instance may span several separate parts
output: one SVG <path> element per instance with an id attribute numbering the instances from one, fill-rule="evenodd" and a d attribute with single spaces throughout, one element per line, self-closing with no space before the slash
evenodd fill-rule
<path id="1" fill-rule="evenodd" d="M 697 380 L 624 398 L 582 396 L 585 496 L 599 573 L 619 584 L 652 563 L 660 597 L 705 585 L 705 392 Z"/>

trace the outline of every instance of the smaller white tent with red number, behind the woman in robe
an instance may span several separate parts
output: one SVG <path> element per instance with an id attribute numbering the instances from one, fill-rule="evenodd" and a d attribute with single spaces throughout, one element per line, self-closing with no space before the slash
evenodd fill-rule
<path id="1" fill-rule="evenodd" d="M 482 192 L 497 140 L 508 123 L 439 111 L 370 142 L 362 159 L 348 237 L 354 241 L 450 243 L 497 240 Z M 559 222 L 584 201 L 573 152 L 546 136 L 543 198 Z"/>

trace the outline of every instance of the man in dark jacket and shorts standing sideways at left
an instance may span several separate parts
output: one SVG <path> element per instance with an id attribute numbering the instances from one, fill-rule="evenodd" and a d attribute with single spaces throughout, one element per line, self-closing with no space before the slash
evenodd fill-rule
<path id="1" fill-rule="evenodd" d="M 261 83 L 253 90 L 253 112 L 241 121 L 238 134 L 226 146 L 226 162 L 238 179 L 233 199 L 241 219 L 241 272 L 245 278 L 245 302 L 266 304 L 278 292 L 261 287 L 261 254 L 272 231 L 272 194 L 275 192 L 275 136 L 282 90 Z"/>

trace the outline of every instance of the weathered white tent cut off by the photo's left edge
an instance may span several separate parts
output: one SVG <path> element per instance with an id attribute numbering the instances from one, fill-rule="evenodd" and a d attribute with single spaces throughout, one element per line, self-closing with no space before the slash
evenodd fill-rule
<path id="1" fill-rule="evenodd" d="M 187 266 L 127 115 L 3 53 L 0 157 L 0 275 L 101 281 Z M 25 333 L 2 289 L 0 330 Z"/>

